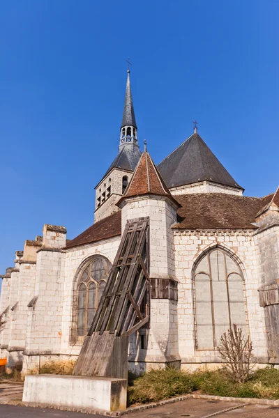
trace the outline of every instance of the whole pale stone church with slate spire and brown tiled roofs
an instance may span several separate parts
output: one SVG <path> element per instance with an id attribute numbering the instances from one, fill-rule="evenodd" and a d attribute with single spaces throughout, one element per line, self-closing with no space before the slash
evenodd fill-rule
<path id="1" fill-rule="evenodd" d="M 77 359 L 126 225 L 142 220 L 149 315 L 129 336 L 128 369 L 217 367 L 233 324 L 250 336 L 256 364 L 279 365 L 279 189 L 243 192 L 197 127 L 157 166 L 146 144 L 140 150 L 128 70 L 118 153 L 96 185 L 93 225 L 68 240 L 65 226 L 45 224 L 1 276 L 7 370 Z"/>

